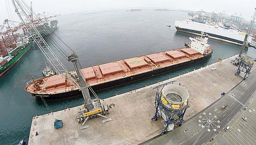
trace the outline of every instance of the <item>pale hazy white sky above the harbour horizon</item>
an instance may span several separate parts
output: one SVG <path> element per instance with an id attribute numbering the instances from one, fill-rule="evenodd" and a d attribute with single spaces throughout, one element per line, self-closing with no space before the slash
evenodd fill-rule
<path id="1" fill-rule="evenodd" d="M 14 21 L 19 21 L 11 0 L 0 0 L 0 25 L 8 18 L 7 6 L 11 7 Z M 25 0 L 33 2 L 35 13 L 71 14 L 81 11 L 104 11 L 131 8 L 175 8 L 200 11 L 225 11 L 225 14 L 242 15 L 250 19 L 256 8 L 256 0 Z M 9 3 L 9 4 L 8 4 Z"/>

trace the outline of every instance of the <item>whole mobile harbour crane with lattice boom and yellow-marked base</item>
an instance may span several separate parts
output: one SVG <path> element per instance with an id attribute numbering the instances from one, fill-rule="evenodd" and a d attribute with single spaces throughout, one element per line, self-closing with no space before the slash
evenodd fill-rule
<path id="1" fill-rule="evenodd" d="M 105 114 L 108 114 L 108 105 L 105 105 L 101 99 L 98 98 L 97 94 L 92 90 L 92 88 L 87 84 L 85 81 L 85 78 L 81 72 L 81 66 L 78 60 L 78 54 L 74 52 L 66 43 L 64 43 L 63 40 L 61 40 L 58 36 L 57 38 L 64 43 L 66 47 L 69 48 L 70 51 L 72 51 L 72 54 L 69 55 L 66 50 L 64 50 L 59 43 L 56 43 L 54 40 L 52 43 L 59 52 L 69 62 L 72 62 L 75 67 L 76 74 L 71 74 L 71 72 L 68 71 L 68 69 L 63 65 L 63 63 L 60 61 L 60 59 L 57 57 L 55 52 L 51 47 L 49 47 L 48 43 L 44 40 L 44 38 L 39 33 L 36 25 L 31 21 L 31 8 L 24 2 L 24 0 L 11 0 L 12 4 L 15 7 L 15 12 L 19 16 L 20 20 L 23 22 L 24 26 L 30 33 L 30 36 L 33 38 L 34 42 L 37 44 L 37 46 L 40 48 L 42 53 L 45 55 L 47 60 L 50 62 L 50 64 L 53 66 L 53 69 L 57 72 L 58 75 L 61 75 L 64 77 L 66 81 L 69 83 L 72 83 L 76 87 L 79 88 L 80 91 L 82 91 L 83 98 L 84 98 L 84 104 L 82 105 L 82 108 L 80 109 L 80 112 L 78 112 L 77 120 L 80 123 L 80 121 L 83 121 L 83 126 L 86 123 L 87 120 L 89 120 L 91 117 L 95 116 L 101 116 L 104 118 L 107 118 L 104 116 Z M 32 11 L 34 14 L 34 12 Z M 34 15 L 34 17 L 37 17 L 37 15 Z M 41 21 L 40 19 L 38 19 Z M 53 32 L 52 32 L 53 33 Z M 56 34 L 53 33 L 55 36 Z M 95 98 L 92 100 L 90 98 L 89 89 L 94 94 Z M 43 99 L 43 98 L 42 98 Z M 111 120 L 111 119 L 107 119 Z"/>

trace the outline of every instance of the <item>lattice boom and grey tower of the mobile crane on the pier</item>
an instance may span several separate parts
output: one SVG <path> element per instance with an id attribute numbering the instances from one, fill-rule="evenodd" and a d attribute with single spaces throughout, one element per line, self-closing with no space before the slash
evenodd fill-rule
<path id="1" fill-rule="evenodd" d="M 37 44 L 39 49 L 45 55 L 47 60 L 51 63 L 51 65 L 53 65 L 53 68 L 55 69 L 55 71 L 58 74 L 60 74 L 62 77 L 64 77 L 65 80 L 68 80 L 68 82 L 70 82 L 73 85 L 75 85 L 76 87 L 78 87 L 82 91 L 85 104 L 87 105 L 87 109 L 88 110 L 93 109 L 94 106 L 93 106 L 92 100 L 90 98 L 90 94 L 88 91 L 88 85 L 87 85 L 87 83 L 82 75 L 82 72 L 80 70 L 81 67 L 80 67 L 80 64 L 78 61 L 78 55 L 75 52 L 73 52 L 72 55 L 69 56 L 66 52 L 62 51 L 63 55 L 65 55 L 68 58 L 68 61 L 73 62 L 74 66 L 75 66 L 75 71 L 79 78 L 79 81 L 77 79 L 75 79 L 70 74 L 70 72 L 68 72 L 68 69 L 62 64 L 60 59 L 56 56 L 54 51 L 49 47 L 49 45 L 46 43 L 44 38 L 39 33 L 39 31 L 36 27 L 36 24 L 34 24 L 32 22 L 31 17 L 30 17 L 31 8 L 28 7 L 28 5 L 23 0 L 12 0 L 12 3 L 15 7 L 15 12 L 18 14 L 20 20 L 23 22 L 26 29 L 30 33 L 30 36 L 33 38 L 34 42 Z M 31 13 L 33 13 L 33 11 Z"/>

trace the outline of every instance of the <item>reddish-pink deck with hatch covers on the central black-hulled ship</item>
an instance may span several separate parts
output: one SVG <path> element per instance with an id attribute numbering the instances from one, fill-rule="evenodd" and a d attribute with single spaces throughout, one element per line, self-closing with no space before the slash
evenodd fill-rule
<path id="1" fill-rule="evenodd" d="M 202 54 L 191 48 L 182 48 L 95 65 L 81 69 L 81 71 L 87 83 L 94 86 L 201 57 L 203 57 Z M 65 83 L 60 75 L 45 77 L 39 86 L 40 89 L 36 89 L 34 84 L 30 83 L 26 91 L 32 94 L 56 94 L 77 89 Z"/>

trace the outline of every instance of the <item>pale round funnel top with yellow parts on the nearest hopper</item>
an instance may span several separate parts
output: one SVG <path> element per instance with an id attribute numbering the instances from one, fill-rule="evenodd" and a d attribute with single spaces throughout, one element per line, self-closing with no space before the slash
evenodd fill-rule
<path id="1" fill-rule="evenodd" d="M 179 109 L 187 105 L 188 91 L 179 85 L 169 84 L 162 90 L 162 102 L 173 109 Z"/>

